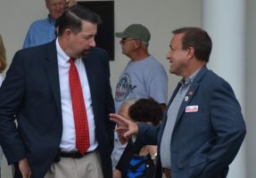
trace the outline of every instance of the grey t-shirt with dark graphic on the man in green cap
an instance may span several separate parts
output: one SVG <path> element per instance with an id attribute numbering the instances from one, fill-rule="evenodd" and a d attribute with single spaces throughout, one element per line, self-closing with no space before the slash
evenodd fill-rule
<path id="1" fill-rule="evenodd" d="M 115 93 L 116 112 L 120 104 L 129 98 L 153 98 L 167 102 L 168 77 L 165 69 L 153 56 L 140 61 L 129 61 L 122 71 Z"/>

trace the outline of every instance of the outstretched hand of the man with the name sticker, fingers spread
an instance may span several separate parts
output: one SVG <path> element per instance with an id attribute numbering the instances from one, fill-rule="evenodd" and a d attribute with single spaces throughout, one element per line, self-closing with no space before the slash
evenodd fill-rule
<path id="1" fill-rule="evenodd" d="M 125 138 L 129 138 L 132 134 L 138 133 L 138 126 L 134 121 L 128 120 L 126 117 L 122 117 L 118 114 L 110 114 L 111 121 L 117 124 L 115 131 L 124 133 Z"/>

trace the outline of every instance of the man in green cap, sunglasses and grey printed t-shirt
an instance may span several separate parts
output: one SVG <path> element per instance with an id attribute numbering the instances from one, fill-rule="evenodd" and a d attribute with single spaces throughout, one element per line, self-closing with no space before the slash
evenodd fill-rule
<path id="1" fill-rule="evenodd" d="M 129 98 L 150 97 L 165 109 L 168 77 L 161 63 L 148 52 L 150 31 L 142 24 L 131 24 L 115 35 L 121 38 L 122 53 L 130 59 L 116 86 L 116 110 L 120 109 L 122 101 Z"/>

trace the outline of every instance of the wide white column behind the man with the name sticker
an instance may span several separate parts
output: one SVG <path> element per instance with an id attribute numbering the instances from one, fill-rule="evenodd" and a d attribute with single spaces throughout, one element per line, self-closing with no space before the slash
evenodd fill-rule
<path id="1" fill-rule="evenodd" d="M 243 113 L 245 3 L 244 0 L 202 0 L 202 28 L 209 32 L 213 43 L 208 66 L 233 87 Z M 243 144 L 231 164 L 228 178 L 247 177 L 244 147 Z"/>

